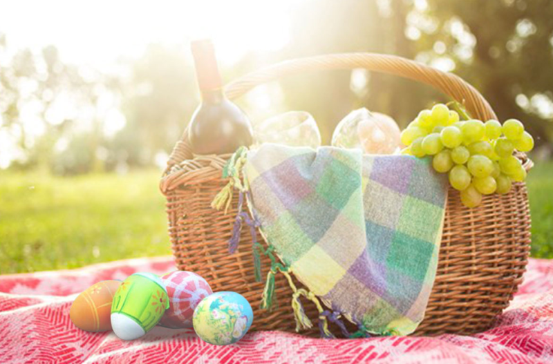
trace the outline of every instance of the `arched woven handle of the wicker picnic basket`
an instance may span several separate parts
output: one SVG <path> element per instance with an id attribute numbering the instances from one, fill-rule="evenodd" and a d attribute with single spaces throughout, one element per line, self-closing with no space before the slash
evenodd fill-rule
<path id="1" fill-rule="evenodd" d="M 456 101 L 465 104 L 470 115 L 477 119 L 487 121 L 497 119 L 496 113 L 486 99 L 470 84 L 452 73 L 442 72 L 430 66 L 425 66 L 416 61 L 393 55 L 379 55 L 375 53 L 343 53 L 335 55 L 321 55 L 283 61 L 273 66 L 249 73 L 225 87 L 225 93 L 229 99 L 236 99 L 244 95 L 252 88 L 275 81 L 281 77 L 295 73 L 306 73 L 319 70 L 349 70 L 353 68 L 366 68 L 375 72 L 397 75 L 423 84 L 433 86 L 442 93 L 449 95 Z M 182 140 L 177 142 L 173 152 L 169 156 L 167 169 L 174 164 L 192 157 L 187 131 Z"/>

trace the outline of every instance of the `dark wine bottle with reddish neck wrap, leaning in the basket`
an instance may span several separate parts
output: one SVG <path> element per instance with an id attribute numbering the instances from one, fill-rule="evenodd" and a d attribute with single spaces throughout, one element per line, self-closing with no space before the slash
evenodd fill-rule
<path id="1" fill-rule="evenodd" d="M 253 142 L 252 123 L 223 93 L 212 42 L 193 41 L 191 50 L 202 97 L 188 128 L 192 152 L 225 154 L 234 153 L 240 146 L 250 146 Z"/>

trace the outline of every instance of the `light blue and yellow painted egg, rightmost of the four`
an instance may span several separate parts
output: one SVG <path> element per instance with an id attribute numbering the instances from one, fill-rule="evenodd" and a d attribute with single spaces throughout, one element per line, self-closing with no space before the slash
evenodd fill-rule
<path id="1" fill-rule="evenodd" d="M 240 340 L 253 320 L 252 306 L 241 294 L 217 292 L 200 302 L 192 323 L 196 334 L 206 343 L 228 345 Z"/>

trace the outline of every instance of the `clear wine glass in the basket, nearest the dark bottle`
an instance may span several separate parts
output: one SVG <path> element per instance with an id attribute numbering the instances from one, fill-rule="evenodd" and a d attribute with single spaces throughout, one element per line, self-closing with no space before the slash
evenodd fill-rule
<path id="1" fill-rule="evenodd" d="M 256 144 L 274 143 L 288 146 L 321 146 L 319 127 L 310 113 L 288 111 L 254 126 Z"/>

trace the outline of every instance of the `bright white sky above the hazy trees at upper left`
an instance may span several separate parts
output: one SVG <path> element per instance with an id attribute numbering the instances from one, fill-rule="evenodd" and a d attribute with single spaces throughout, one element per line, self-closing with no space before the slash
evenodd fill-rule
<path id="1" fill-rule="evenodd" d="M 102 68 L 138 57 L 151 42 L 187 44 L 211 37 L 224 63 L 248 50 L 278 50 L 289 40 L 296 0 L 3 2 L 0 32 L 9 48 L 54 44 L 66 62 Z"/>

